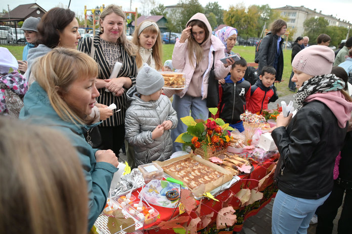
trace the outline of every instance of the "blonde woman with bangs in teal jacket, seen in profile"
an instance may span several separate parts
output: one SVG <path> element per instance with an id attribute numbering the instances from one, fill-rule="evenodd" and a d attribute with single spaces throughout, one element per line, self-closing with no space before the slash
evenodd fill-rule
<path id="1" fill-rule="evenodd" d="M 83 132 L 99 92 L 98 66 L 75 49 L 55 48 L 41 57 L 33 69 L 37 78 L 24 97 L 20 119 L 61 131 L 76 148 L 89 196 L 89 228 L 105 207 L 118 160 L 111 150 L 93 149 Z M 74 207 L 72 207 L 74 208 Z"/>

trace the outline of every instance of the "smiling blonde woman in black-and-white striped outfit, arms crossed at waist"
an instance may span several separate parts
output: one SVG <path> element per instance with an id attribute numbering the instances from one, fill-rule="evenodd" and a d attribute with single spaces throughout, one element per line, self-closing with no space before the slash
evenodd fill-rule
<path id="1" fill-rule="evenodd" d="M 129 107 L 126 91 L 136 83 L 136 46 L 125 35 L 125 14 L 116 5 L 107 6 L 100 15 L 100 32 L 84 38 L 78 44 L 78 50 L 98 63 L 99 74 L 97 88 L 100 96 L 97 101 L 104 105 L 115 103 L 117 110 L 99 125 L 103 145 L 101 149 L 112 149 L 116 155 L 124 142 L 124 119 Z M 110 79 L 116 62 L 122 67 L 118 75 Z M 108 90 L 105 91 L 105 90 Z"/>

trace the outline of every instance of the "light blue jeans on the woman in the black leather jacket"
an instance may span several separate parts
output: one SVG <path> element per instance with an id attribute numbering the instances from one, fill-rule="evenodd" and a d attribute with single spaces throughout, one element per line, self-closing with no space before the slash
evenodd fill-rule
<path id="1" fill-rule="evenodd" d="M 279 190 L 273 205 L 272 233 L 307 233 L 314 212 L 329 195 L 330 193 L 317 200 L 303 199 L 290 196 Z"/>

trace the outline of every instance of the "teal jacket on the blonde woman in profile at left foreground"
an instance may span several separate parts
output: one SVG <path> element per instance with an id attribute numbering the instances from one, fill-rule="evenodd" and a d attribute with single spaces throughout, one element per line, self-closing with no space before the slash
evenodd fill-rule
<path id="1" fill-rule="evenodd" d="M 91 229 L 105 207 L 112 177 L 117 171 L 117 168 L 110 163 L 96 161 L 95 153 L 98 149 L 93 149 L 83 137 L 84 129 L 89 129 L 91 126 L 82 126 L 62 120 L 50 104 L 48 94 L 37 82 L 31 85 L 24 96 L 24 107 L 21 109 L 19 118 L 31 124 L 49 126 L 59 130 L 77 149 L 87 182 L 88 228 Z"/>

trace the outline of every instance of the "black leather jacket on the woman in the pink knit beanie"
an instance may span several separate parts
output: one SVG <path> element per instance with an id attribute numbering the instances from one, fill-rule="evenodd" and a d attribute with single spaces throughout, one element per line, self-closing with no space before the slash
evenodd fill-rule
<path id="1" fill-rule="evenodd" d="M 280 158 L 275 181 L 294 197 L 319 199 L 333 187 L 335 158 L 342 148 L 347 127 L 338 127 L 331 110 L 320 101 L 304 103 L 287 129 L 272 132 Z"/>

